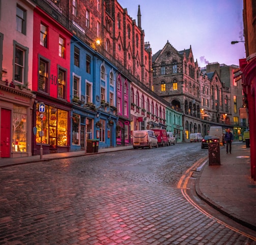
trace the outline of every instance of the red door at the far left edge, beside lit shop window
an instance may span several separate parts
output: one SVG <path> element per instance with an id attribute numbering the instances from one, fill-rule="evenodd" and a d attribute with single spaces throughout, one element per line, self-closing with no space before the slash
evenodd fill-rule
<path id="1" fill-rule="evenodd" d="M 1 157 L 11 157 L 11 110 L 1 110 L 1 135 L 0 135 Z"/>

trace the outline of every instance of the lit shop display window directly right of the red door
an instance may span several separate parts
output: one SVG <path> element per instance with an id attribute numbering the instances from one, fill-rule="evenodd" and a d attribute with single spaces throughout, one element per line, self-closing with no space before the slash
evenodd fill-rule
<path id="1" fill-rule="evenodd" d="M 27 143 L 27 114 L 25 107 L 13 107 L 13 152 L 26 152 Z"/>

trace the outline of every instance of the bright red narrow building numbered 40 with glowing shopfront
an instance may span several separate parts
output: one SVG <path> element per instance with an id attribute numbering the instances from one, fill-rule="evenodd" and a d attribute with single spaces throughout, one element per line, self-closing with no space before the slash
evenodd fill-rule
<path id="1" fill-rule="evenodd" d="M 56 19 L 56 16 L 54 16 Z M 70 146 L 70 40 L 72 33 L 39 7 L 34 11 L 33 83 L 36 94 L 33 154 L 66 152 Z M 45 112 L 40 112 L 40 104 Z M 40 135 L 40 131 L 43 135 Z"/>

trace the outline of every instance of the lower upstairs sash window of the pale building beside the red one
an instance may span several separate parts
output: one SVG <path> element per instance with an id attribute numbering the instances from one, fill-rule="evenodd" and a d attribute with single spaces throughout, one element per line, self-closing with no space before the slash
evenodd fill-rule
<path id="1" fill-rule="evenodd" d="M 24 82 L 24 50 L 15 47 L 15 61 L 14 61 L 14 80 L 20 83 Z"/>

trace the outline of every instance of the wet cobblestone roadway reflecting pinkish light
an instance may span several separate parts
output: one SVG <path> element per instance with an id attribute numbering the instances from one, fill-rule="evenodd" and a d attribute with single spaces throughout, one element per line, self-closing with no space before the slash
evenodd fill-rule
<path id="1" fill-rule="evenodd" d="M 164 149 L 1 169 L 0 244 L 255 244 L 177 189 L 203 153 L 181 161 Z"/>

